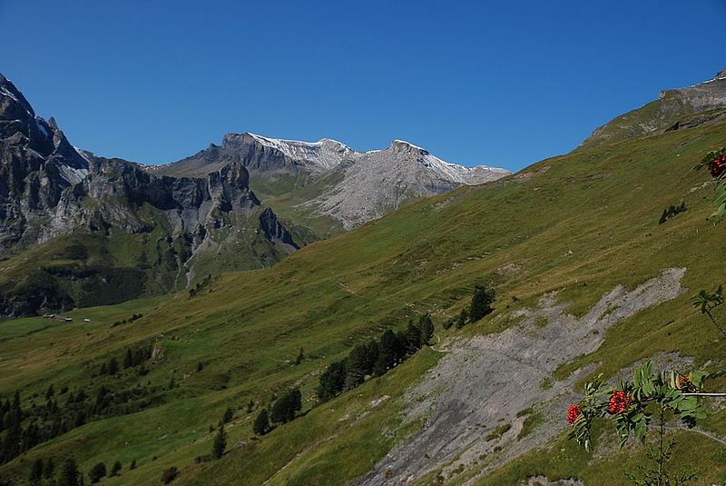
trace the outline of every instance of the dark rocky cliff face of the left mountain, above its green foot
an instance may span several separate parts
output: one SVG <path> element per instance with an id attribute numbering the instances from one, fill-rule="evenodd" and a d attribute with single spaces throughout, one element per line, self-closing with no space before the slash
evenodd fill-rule
<path id="1" fill-rule="evenodd" d="M 122 234 L 153 234 L 159 243 L 143 243 L 149 237 L 133 241 L 157 255 L 148 273 L 172 273 L 156 286 L 156 292 L 164 292 L 179 288 L 195 273 L 259 268 L 298 249 L 277 216 L 263 209 L 250 190 L 247 168 L 236 160 L 225 160 L 200 177 L 174 177 L 75 149 L 54 119 L 46 122 L 36 116 L 23 94 L 0 74 L 3 256 L 72 234 L 108 241 Z M 228 258 L 229 253 L 239 255 L 240 248 L 249 248 L 241 250 L 248 258 Z M 139 249 L 139 258 L 146 263 L 144 251 Z M 113 256 L 106 260 L 113 261 Z M 54 279 L 60 278 L 57 268 L 53 272 Z M 38 279 L 47 283 L 46 276 Z M 5 278 L 9 280 L 0 282 L 0 303 L 5 304 L 0 307 L 5 313 L 17 313 L 18 308 L 29 312 L 33 305 L 16 305 L 13 279 Z M 143 287 L 139 292 L 146 292 Z M 64 304 L 74 300 L 73 295 L 66 297 Z"/>

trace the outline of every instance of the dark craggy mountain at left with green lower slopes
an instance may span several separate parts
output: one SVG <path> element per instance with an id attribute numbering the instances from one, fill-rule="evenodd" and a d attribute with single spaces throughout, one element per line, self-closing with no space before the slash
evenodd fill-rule
<path id="1" fill-rule="evenodd" d="M 200 177 L 75 149 L 0 76 L 0 314 L 123 302 L 299 248 L 241 164 Z"/>

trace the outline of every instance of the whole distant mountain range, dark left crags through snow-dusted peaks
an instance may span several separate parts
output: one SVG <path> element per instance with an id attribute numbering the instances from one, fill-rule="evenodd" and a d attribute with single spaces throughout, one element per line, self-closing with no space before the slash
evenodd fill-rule
<path id="1" fill-rule="evenodd" d="M 225 135 L 173 164 L 108 159 L 70 144 L 0 74 L 0 313 L 115 303 L 268 266 L 407 202 L 506 174 L 402 141 L 358 153 L 257 134 Z"/>

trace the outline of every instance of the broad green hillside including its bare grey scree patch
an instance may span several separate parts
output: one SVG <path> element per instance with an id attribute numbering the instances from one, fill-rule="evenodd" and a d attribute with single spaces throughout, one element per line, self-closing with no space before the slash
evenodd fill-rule
<path id="1" fill-rule="evenodd" d="M 159 484 L 172 467 L 179 485 L 625 483 L 650 467 L 648 444 L 619 449 L 610 420 L 592 452 L 567 438 L 585 380 L 614 384 L 652 359 L 714 372 L 707 390 L 726 390 L 726 340 L 690 301 L 726 273 L 713 182 L 692 170 L 723 146 L 726 109 L 685 123 L 703 113 L 409 203 L 192 296 L 0 322 L 0 395 L 19 391 L 26 438 L 0 477 L 23 483 L 34 461 L 73 454 L 85 473 L 121 461 L 110 485 Z M 495 289 L 494 312 L 448 326 L 479 284 Z M 331 363 L 426 314 L 432 346 L 318 401 Z M 139 350 L 153 357 L 108 372 Z M 255 435 L 258 413 L 295 387 L 298 416 Z M 212 460 L 228 408 L 227 451 Z M 694 428 L 667 427 L 669 471 L 721 483 L 726 409 L 708 402 Z"/>

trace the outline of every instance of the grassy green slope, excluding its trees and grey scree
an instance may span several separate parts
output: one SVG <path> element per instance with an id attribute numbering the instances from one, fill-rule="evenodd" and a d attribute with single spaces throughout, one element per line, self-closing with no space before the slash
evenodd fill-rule
<path id="1" fill-rule="evenodd" d="M 0 342 L 0 369 L 20 371 L 0 373 L 5 395 L 15 388 L 24 397 L 42 393 L 48 382 L 56 389 L 88 383 L 89 367 L 161 334 L 164 356 L 143 380 L 162 383 L 175 376 L 182 383 L 169 392 L 167 404 L 87 424 L 0 468 L 0 474 L 25 475 L 36 453 L 74 451 L 86 471 L 99 460 L 125 465 L 137 459 L 136 471 L 108 484 L 153 484 L 170 464 L 182 469 L 177 480 L 182 484 L 239 478 L 250 484 L 270 478 L 269 484 L 345 482 L 417 427 L 397 427 L 403 406 L 398 397 L 436 362 L 437 353 L 423 352 L 385 377 L 309 410 L 317 373 L 353 344 L 387 326 L 404 325 L 411 312 L 433 312 L 438 324 L 465 305 L 474 283 L 510 263 L 520 271 L 496 277 L 495 316 L 514 308 L 514 296 L 521 300 L 516 305 L 532 305 L 553 290 L 572 303 L 571 312 L 584 312 L 615 284 L 633 288 L 670 266 L 688 268 L 684 284 L 691 289 L 721 282 L 722 227 L 705 221 L 711 189 L 692 191 L 706 174 L 690 169 L 704 152 L 724 143 L 726 124 L 715 124 L 579 150 L 503 181 L 413 203 L 355 232 L 312 244 L 271 269 L 223 275 L 193 299 L 179 294 L 153 303 L 131 324 L 109 328 L 116 318 L 99 317 L 90 327 L 54 326 Z M 681 200 L 689 211 L 658 225 L 662 209 Z M 466 330 L 492 331 L 489 320 Z M 698 362 L 720 360 L 726 344 L 717 337 L 684 295 L 616 325 L 601 350 L 582 362 L 602 362 L 603 371 L 613 373 L 662 350 L 678 350 Z M 306 360 L 297 367 L 285 362 L 300 346 Z M 204 370 L 195 372 L 200 361 Z M 240 442 L 219 462 L 192 464 L 194 456 L 209 451 L 208 427 L 228 405 L 242 408 L 250 399 L 265 404 L 293 383 L 303 391 L 303 418 L 250 441 L 252 415 L 240 410 L 229 429 L 230 444 L 246 445 Z M 371 407 L 385 395 L 391 398 Z M 719 412 L 704 425 L 723 433 L 724 418 Z M 700 436 L 688 441 L 712 449 Z M 570 451 L 570 445 L 563 447 Z M 159 459 L 152 461 L 154 455 Z M 580 451 L 563 461 L 535 454 L 497 473 L 512 480 L 531 471 L 566 476 L 585 466 L 599 471 L 599 463 L 588 465 Z M 723 461 L 712 459 L 710 465 L 705 476 L 723 474 Z"/>

